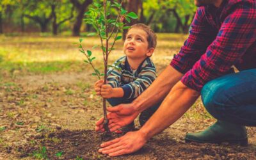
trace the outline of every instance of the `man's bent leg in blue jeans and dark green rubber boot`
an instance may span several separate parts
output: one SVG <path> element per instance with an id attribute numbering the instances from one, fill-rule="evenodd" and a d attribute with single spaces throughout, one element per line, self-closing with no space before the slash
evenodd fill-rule
<path id="1" fill-rule="evenodd" d="M 218 121 L 205 131 L 187 134 L 185 140 L 246 145 L 244 125 L 256 126 L 256 69 L 209 81 L 201 95 L 205 109 Z"/>

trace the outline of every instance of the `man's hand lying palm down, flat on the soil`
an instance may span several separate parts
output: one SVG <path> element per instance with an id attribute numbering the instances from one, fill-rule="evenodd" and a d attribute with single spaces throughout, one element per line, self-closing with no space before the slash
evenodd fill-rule
<path id="1" fill-rule="evenodd" d="M 120 138 L 102 143 L 99 152 L 111 157 L 130 154 L 139 150 L 146 142 L 145 136 L 140 131 L 127 132 Z"/>

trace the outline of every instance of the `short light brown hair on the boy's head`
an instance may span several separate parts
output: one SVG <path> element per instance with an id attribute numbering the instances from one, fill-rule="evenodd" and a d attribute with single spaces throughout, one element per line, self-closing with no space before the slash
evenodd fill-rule
<path id="1" fill-rule="evenodd" d="M 132 28 L 139 28 L 139 29 L 143 29 L 143 31 L 145 31 L 148 35 L 147 37 L 147 41 L 148 41 L 148 49 L 150 48 L 156 48 L 156 33 L 154 33 L 154 31 L 152 29 L 150 29 L 150 27 L 148 27 L 147 25 L 143 24 L 143 23 L 138 23 L 138 24 L 134 24 L 131 26 L 131 28 L 128 29 L 128 31 Z"/>

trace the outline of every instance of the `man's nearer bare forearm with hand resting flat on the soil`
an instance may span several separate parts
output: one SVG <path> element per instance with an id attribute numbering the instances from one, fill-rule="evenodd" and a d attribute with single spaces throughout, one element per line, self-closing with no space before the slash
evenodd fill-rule
<path id="1" fill-rule="evenodd" d="M 173 86 L 156 113 L 136 132 L 128 132 L 120 138 L 102 143 L 99 152 L 109 156 L 120 156 L 139 150 L 149 138 L 163 131 L 180 118 L 195 102 L 200 93 L 183 83 Z"/>

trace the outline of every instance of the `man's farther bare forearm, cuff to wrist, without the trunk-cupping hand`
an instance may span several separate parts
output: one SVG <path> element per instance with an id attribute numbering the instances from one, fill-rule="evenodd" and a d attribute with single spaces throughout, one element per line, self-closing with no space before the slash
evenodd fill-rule
<path id="1" fill-rule="evenodd" d="M 183 74 L 168 65 L 147 90 L 132 102 L 135 109 L 141 112 L 163 100 L 182 76 Z"/>

